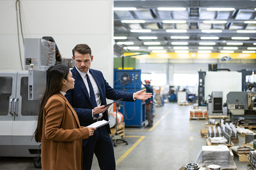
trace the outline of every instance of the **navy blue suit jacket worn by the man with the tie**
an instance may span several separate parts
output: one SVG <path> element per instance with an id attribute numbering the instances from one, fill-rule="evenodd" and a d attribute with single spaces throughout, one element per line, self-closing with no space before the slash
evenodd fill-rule
<path id="1" fill-rule="evenodd" d="M 71 70 L 71 72 L 73 74 L 73 78 L 75 79 L 75 84 L 73 89 L 70 89 L 66 92 L 65 97 L 67 98 L 71 106 L 74 108 L 78 116 L 80 125 L 88 126 L 92 124 L 92 121 L 93 121 L 93 117 L 92 117 L 93 108 L 90 101 L 89 93 L 87 91 L 86 85 L 84 84 L 80 74 L 78 73 L 75 67 Z M 126 92 L 114 90 L 109 85 L 109 83 L 105 80 L 101 71 L 90 69 L 90 72 L 92 73 L 97 83 L 97 86 L 100 90 L 102 105 L 107 104 L 106 98 L 111 100 L 118 100 L 120 98 L 123 98 L 124 101 L 134 101 L 133 93 L 126 93 Z M 107 121 L 109 120 L 108 110 L 106 110 L 103 113 L 102 118 Z M 107 128 L 109 133 L 111 133 L 109 124 L 107 124 Z M 85 140 L 88 140 L 88 139 L 85 139 Z M 83 145 L 84 145 L 84 142 L 83 142 Z"/>

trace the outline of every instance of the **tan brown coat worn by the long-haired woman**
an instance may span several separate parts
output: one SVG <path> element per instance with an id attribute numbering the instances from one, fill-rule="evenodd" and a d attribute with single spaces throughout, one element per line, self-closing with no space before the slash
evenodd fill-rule
<path id="1" fill-rule="evenodd" d="M 42 169 L 81 169 L 81 139 L 88 137 L 67 99 L 61 93 L 51 96 L 43 115 Z"/>

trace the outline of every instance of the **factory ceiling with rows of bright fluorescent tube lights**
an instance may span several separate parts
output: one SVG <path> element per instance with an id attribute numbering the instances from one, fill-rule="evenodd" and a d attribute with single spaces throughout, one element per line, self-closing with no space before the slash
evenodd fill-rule
<path id="1" fill-rule="evenodd" d="M 256 1 L 115 0 L 114 39 L 128 51 L 255 54 Z"/>

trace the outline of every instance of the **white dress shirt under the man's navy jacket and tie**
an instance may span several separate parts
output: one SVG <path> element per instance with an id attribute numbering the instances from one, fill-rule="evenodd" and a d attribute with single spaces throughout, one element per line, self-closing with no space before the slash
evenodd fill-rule
<path id="1" fill-rule="evenodd" d="M 76 66 L 75 66 L 75 68 L 76 68 Z M 100 90 L 99 90 L 99 88 L 98 88 L 98 86 L 97 86 L 97 83 L 96 83 L 96 81 L 95 81 L 93 75 L 92 75 L 92 74 L 90 73 L 90 71 L 89 71 L 90 69 L 88 70 L 87 73 L 83 73 L 83 72 L 81 72 L 80 70 L 78 70 L 77 68 L 76 68 L 76 70 L 78 71 L 78 73 L 80 74 L 80 76 L 81 76 L 81 78 L 82 78 L 84 84 L 86 85 L 87 91 L 88 91 L 89 96 L 90 96 L 90 88 L 89 88 L 89 85 L 88 85 L 88 82 L 87 82 L 86 74 L 89 75 L 90 81 L 91 81 L 92 86 L 93 86 L 93 88 L 94 88 L 94 94 L 95 94 L 95 99 L 96 99 L 96 102 L 97 102 L 97 106 L 101 106 L 102 101 L 101 101 Z M 103 116 L 102 113 L 100 113 L 98 119 L 102 118 L 102 116 Z M 93 117 L 93 119 L 97 119 L 97 118 L 94 117 L 94 115 L 93 115 L 93 110 L 92 110 L 92 117 Z"/>

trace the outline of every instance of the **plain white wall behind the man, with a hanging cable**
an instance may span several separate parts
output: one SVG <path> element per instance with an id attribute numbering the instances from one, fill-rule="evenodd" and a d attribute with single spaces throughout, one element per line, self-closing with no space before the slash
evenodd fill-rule
<path id="1" fill-rule="evenodd" d="M 71 58 L 75 45 L 88 44 L 94 56 L 91 68 L 101 70 L 113 84 L 112 0 L 22 0 L 20 8 L 24 38 L 53 37 L 62 58 Z M 21 70 L 16 1 L 0 1 L 0 11 L 0 70 Z"/>

